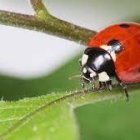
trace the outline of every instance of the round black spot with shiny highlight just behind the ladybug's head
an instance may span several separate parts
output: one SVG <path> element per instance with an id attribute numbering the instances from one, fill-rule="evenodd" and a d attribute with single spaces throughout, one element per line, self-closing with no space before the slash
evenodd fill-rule
<path id="1" fill-rule="evenodd" d="M 115 53 L 119 53 L 123 49 L 122 44 L 118 40 L 115 40 L 115 39 L 109 41 L 107 45 L 111 47 L 110 51 L 114 51 Z"/>

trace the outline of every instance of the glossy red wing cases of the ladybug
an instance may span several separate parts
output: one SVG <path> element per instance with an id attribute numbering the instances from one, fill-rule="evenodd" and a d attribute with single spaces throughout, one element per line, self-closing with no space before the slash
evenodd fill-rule
<path id="1" fill-rule="evenodd" d="M 115 73 L 123 83 L 140 82 L 140 24 L 123 23 L 109 26 L 99 32 L 87 44 L 89 48 L 107 45 L 118 40 L 123 47 L 116 54 Z"/>

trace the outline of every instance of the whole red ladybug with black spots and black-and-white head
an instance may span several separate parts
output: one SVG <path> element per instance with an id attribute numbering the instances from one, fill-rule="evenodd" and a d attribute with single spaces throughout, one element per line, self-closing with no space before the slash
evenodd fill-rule
<path id="1" fill-rule="evenodd" d="M 80 61 L 83 87 L 99 81 L 100 88 L 111 90 L 115 77 L 127 94 L 127 84 L 140 82 L 140 24 L 111 25 L 87 46 Z"/>

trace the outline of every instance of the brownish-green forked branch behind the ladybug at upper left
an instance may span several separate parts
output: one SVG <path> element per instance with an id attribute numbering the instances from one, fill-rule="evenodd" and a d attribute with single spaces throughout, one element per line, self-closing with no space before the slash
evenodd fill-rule
<path id="1" fill-rule="evenodd" d="M 0 23 L 44 32 L 84 45 L 96 34 L 95 31 L 50 15 L 42 0 L 31 0 L 31 4 L 36 12 L 34 16 L 0 10 Z"/>

